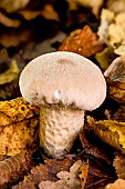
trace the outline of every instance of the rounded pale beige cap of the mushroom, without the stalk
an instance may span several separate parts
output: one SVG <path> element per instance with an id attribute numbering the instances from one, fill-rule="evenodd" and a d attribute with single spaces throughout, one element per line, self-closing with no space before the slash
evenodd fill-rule
<path id="1" fill-rule="evenodd" d="M 19 80 L 23 98 L 35 106 L 98 108 L 106 97 L 101 69 L 88 59 L 67 51 L 42 54 L 30 61 Z"/>

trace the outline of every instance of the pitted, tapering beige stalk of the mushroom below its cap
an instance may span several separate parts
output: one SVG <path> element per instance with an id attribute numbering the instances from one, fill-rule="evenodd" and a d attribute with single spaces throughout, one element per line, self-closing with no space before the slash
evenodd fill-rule
<path id="1" fill-rule="evenodd" d="M 84 125 L 84 111 L 69 107 L 40 108 L 40 146 L 56 159 L 72 148 Z"/>

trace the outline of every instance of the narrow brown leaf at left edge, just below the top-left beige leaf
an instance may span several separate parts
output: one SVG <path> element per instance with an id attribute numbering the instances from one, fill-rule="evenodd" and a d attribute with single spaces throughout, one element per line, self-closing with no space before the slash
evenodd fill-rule
<path id="1" fill-rule="evenodd" d="M 12 20 L 4 16 L 2 12 L 0 12 L 0 23 L 4 24 L 6 27 L 13 28 L 18 28 L 21 24 L 20 20 Z"/>

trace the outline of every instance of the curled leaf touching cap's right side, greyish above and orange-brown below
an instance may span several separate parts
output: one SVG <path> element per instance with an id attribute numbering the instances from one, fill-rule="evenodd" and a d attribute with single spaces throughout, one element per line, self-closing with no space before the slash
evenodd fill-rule
<path id="1" fill-rule="evenodd" d="M 104 76 L 110 97 L 125 102 L 125 56 L 116 58 L 105 70 Z"/>

